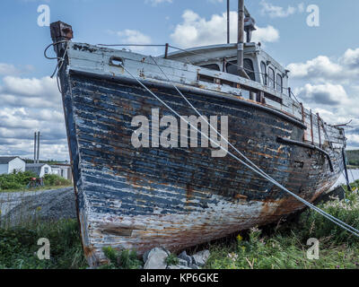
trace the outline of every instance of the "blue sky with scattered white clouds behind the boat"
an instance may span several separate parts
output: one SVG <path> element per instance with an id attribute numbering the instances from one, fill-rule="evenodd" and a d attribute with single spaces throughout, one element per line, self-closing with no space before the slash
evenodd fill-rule
<path id="1" fill-rule="evenodd" d="M 231 42 L 237 4 L 231 0 Z M 256 20 L 253 40 L 291 71 L 297 97 L 330 124 L 352 120 L 346 128 L 348 149 L 359 149 L 359 1 L 245 4 Z M 50 22 L 71 24 L 78 42 L 190 48 L 226 41 L 226 0 L 2 0 L 0 155 L 32 158 L 33 134 L 39 130 L 40 159 L 68 160 L 61 96 L 49 77 L 56 63 L 43 56 L 51 39 L 41 5 L 47 5 Z M 162 48 L 131 49 L 163 53 Z"/>

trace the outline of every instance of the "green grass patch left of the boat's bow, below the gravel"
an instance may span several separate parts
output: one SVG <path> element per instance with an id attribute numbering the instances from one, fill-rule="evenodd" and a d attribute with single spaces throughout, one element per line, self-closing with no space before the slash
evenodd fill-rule
<path id="1" fill-rule="evenodd" d="M 38 240 L 50 242 L 50 259 L 40 260 Z M 27 227 L 0 229 L 0 269 L 83 269 L 78 223 L 74 220 L 37 222 Z"/>

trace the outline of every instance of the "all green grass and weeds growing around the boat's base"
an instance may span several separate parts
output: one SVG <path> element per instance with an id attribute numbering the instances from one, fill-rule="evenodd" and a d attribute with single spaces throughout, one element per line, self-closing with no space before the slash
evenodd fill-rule
<path id="1" fill-rule="evenodd" d="M 359 186 L 359 180 L 355 182 Z M 354 184 L 352 185 L 355 186 Z M 346 187 L 344 187 L 346 189 Z M 346 190 L 346 199 L 320 204 L 324 211 L 359 229 L 359 195 Z M 39 260 L 37 240 L 50 241 L 50 260 Z M 307 240 L 320 242 L 319 259 L 307 257 Z M 358 269 L 359 239 L 309 209 L 303 213 L 265 227 L 242 230 L 188 248 L 188 254 L 209 249 L 206 269 Z M 101 268 L 137 268 L 142 261 L 135 251 L 113 252 L 107 249 L 109 265 Z M 115 256 L 116 254 L 116 256 Z M 175 257 L 175 255 L 173 255 Z M 122 258 L 126 265 L 118 264 Z M 116 262 L 112 262 L 116 260 Z M 133 264 L 132 264 L 133 263 Z M 84 269 L 87 262 L 76 220 L 27 222 L 26 225 L 0 229 L 0 269 Z"/>

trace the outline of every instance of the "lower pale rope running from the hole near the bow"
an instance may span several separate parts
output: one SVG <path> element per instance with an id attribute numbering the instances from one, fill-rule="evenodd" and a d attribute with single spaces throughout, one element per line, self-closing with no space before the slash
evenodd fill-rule
<path id="1" fill-rule="evenodd" d="M 205 135 L 202 131 L 199 131 L 197 126 L 193 126 L 190 122 L 188 122 L 188 120 L 186 120 L 184 117 L 180 116 L 179 113 L 177 113 L 174 109 L 171 109 L 171 107 L 169 105 L 167 105 L 163 100 L 161 100 L 157 95 L 155 95 L 153 93 L 153 91 L 151 91 L 150 89 L 148 89 L 144 83 L 142 83 L 140 80 L 138 80 L 136 78 L 136 76 L 134 74 L 132 74 L 124 65 L 122 65 L 121 63 L 119 63 L 119 65 L 122 66 L 122 68 L 127 72 L 127 74 L 130 74 L 137 83 L 139 83 L 144 90 L 150 92 L 153 97 L 156 100 L 159 100 L 162 105 L 164 105 L 167 109 L 170 109 L 171 112 L 173 112 L 177 117 L 180 117 L 180 119 L 182 119 L 184 122 L 186 122 L 189 126 L 191 126 L 192 128 L 194 128 L 198 133 L 200 133 L 201 135 L 204 135 L 206 137 L 206 139 L 208 139 L 210 142 L 215 143 L 215 141 L 213 141 L 211 138 L 209 138 L 207 135 Z M 302 202 L 302 204 L 305 204 L 309 207 L 311 207 L 312 209 L 314 209 L 315 211 L 317 211 L 318 213 L 320 213 L 321 215 L 323 215 L 324 217 L 326 217 L 329 221 L 334 222 L 335 224 L 337 224 L 339 227 L 343 228 L 344 230 L 354 234 L 356 237 L 359 237 L 359 230 L 356 230 L 354 227 L 346 224 L 346 222 L 342 222 L 339 219 L 335 218 L 334 216 L 325 213 L 324 211 L 320 210 L 320 208 L 317 208 L 316 206 L 314 206 L 311 203 L 308 203 L 307 201 L 305 201 L 304 199 L 302 199 L 302 197 L 297 196 L 295 194 L 293 194 L 293 192 L 291 192 L 290 190 L 288 190 L 287 188 L 283 187 L 281 184 L 279 184 L 278 182 L 276 182 L 276 180 L 274 179 L 270 179 L 269 176 L 266 176 L 266 174 L 263 172 L 263 174 L 261 174 L 258 170 L 254 169 L 253 167 L 251 167 L 249 164 L 247 164 L 244 161 L 241 161 L 240 158 L 238 158 L 236 155 L 234 155 L 232 152 L 227 151 L 226 149 L 223 148 L 223 146 L 221 146 L 218 143 L 215 143 L 215 145 L 217 145 L 220 149 L 222 149 L 225 152 L 228 152 L 228 154 L 230 154 L 234 159 L 236 159 L 237 161 L 240 161 L 243 165 L 245 165 L 247 168 L 249 168 L 252 171 L 255 171 L 256 173 L 258 173 L 259 175 L 261 175 L 262 177 L 266 178 L 267 180 L 271 181 L 274 185 L 276 185 L 276 187 L 280 187 L 281 189 L 285 190 L 285 192 L 287 192 L 288 194 L 292 195 L 293 197 L 295 197 L 298 201 Z M 346 226 L 348 228 L 346 228 Z M 350 230 L 351 229 L 351 230 Z"/>

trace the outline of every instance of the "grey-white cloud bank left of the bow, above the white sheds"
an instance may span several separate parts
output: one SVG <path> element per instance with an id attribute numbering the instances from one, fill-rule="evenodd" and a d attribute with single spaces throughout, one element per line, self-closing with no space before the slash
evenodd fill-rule
<path id="1" fill-rule="evenodd" d="M 65 118 L 55 79 L 5 76 L 0 86 L 0 154 L 32 158 L 41 132 L 40 158 L 68 160 Z"/>

